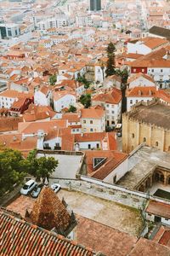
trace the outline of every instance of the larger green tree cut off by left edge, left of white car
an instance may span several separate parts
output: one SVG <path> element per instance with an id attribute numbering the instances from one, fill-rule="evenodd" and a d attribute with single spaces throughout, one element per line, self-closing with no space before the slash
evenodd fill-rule
<path id="1" fill-rule="evenodd" d="M 0 152 L 0 196 L 6 191 L 13 190 L 14 184 L 19 184 L 28 171 L 27 160 L 22 154 L 13 149 Z"/>

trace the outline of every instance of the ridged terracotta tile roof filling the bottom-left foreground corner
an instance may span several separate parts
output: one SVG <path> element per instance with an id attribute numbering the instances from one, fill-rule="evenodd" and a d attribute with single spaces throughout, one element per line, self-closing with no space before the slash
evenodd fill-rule
<path id="1" fill-rule="evenodd" d="M 75 245 L 63 236 L 57 236 L 2 211 L 0 211 L 0 224 L 1 256 L 96 255 L 92 249 Z"/>

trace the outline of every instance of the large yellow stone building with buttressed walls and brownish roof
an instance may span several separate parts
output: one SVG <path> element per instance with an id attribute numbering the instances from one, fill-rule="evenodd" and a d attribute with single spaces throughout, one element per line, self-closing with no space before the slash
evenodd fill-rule
<path id="1" fill-rule="evenodd" d="M 129 154 L 139 144 L 145 143 L 170 152 L 170 108 L 161 102 L 140 106 L 122 115 L 122 151 Z"/>

